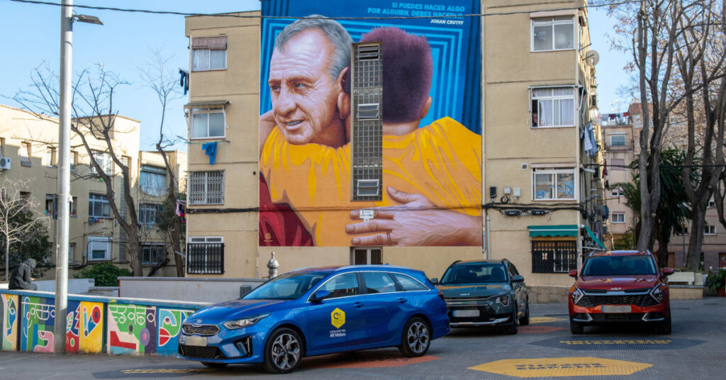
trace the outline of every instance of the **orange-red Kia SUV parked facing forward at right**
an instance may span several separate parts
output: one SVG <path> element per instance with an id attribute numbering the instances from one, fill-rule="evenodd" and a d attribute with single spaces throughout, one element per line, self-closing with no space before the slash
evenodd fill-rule
<path id="1" fill-rule="evenodd" d="M 650 251 L 606 251 L 587 257 L 570 288 L 570 331 L 608 323 L 648 323 L 658 333 L 671 333 L 671 308 L 667 276 L 671 268 L 658 269 Z"/>

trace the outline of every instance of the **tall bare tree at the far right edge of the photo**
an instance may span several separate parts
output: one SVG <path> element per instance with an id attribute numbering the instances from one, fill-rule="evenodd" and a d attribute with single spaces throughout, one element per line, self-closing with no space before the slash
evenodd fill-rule
<path id="1" fill-rule="evenodd" d="M 720 3 L 720 4 L 719 4 Z M 726 37 L 723 3 L 698 1 L 680 20 L 677 62 L 685 93 L 688 148 L 682 168 L 693 217 L 686 265 L 697 270 L 703 244 L 706 209 L 723 171 L 726 110 Z M 696 165 L 696 163 L 699 163 Z M 687 179 L 698 179 L 696 185 Z"/>

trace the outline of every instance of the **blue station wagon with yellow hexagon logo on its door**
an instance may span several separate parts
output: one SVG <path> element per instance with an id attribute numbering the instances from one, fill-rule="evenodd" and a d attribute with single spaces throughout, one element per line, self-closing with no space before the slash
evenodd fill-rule
<path id="1" fill-rule="evenodd" d="M 208 367 L 263 363 L 294 371 L 303 357 L 380 347 L 424 355 L 449 333 L 446 303 L 425 274 L 407 267 L 356 265 L 295 270 L 242 299 L 184 320 L 179 357 Z"/>

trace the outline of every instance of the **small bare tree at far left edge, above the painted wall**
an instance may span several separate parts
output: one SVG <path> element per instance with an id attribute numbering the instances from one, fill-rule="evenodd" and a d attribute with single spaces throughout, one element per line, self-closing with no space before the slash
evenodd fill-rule
<path id="1" fill-rule="evenodd" d="M 36 216 L 32 210 L 38 208 L 33 198 L 24 198 L 23 190 L 28 189 L 30 179 L 3 180 L 0 189 L 0 234 L 5 243 L 5 280 L 10 278 L 10 245 L 32 238 L 33 230 L 38 227 L 48 228 L 49 218 Z"/>

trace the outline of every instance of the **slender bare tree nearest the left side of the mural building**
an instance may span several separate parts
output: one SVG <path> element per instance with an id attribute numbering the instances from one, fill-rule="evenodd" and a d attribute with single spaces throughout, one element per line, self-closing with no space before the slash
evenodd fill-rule
<path id="1" fill-rule="evenodd" d="M 156 150 L 164 160 L 166 166 L 166 174 L 168 176 L 168 186 L 166 192 L 166 203 L 168 206 L 175 205 L 179 199 L 179 178 L 176 177 L 176 168 L 172 165 L 166 149 L 174 145 L 176 138 L 168 138 L 164 135 L 164 121 L 166 120 L 166 109 L 170 102 L 181 98 L 181 93 L 177 87 L 178 79 L 171 70 L 168 70 L 169 62 L 172 57 L 163 57 L 160 51 L 153 54 L 152 60 L 145 68 L 140 68 L 139 73 L 144 82 L 144 86 L 152 89 L 158 97 L 161 119 L 159 121 L 159 140 L 156 142 Z M 181 217 L 176 214 L 171 216 L 171 220 L 165 223 L 166 233 L 171 240 L 171 251 L 176 263 L 176 275 L 184 277 L 184 257 L 181 255 L 181 235 L 182 228 Z M 168 254 L 167 254 L 168 255 Z"/>

